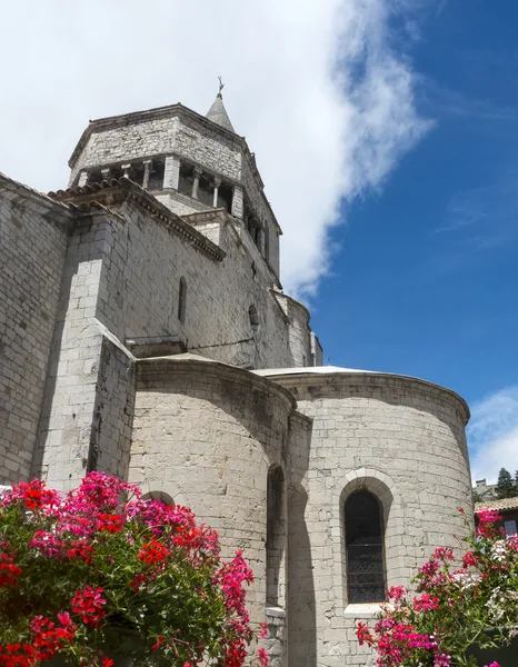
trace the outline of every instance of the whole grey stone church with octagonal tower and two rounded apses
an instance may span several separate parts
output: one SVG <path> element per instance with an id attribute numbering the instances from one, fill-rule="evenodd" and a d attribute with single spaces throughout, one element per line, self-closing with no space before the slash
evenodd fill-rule
<path id="1" fill-rule="evenodd" d="M 470 510 L 454 391 L 322 366 L 221 93 L 91 121 L 68 188 L 0 175 L 0 484 L 89 470 L 193 508 L 253 567 L 273 667 L 355 637 Z"/>

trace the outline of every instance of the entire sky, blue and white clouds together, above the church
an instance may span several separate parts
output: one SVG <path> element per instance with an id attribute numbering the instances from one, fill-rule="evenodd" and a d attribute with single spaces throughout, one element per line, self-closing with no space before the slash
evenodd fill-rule
<path id="1" fill-rule="evenodd" d="M 2 28 L 1 171 L 59 189 L 89 119 L 205 113 L 222 74 L 326 361 L 455 389 L 474 476 L 518 468 L 516 0 L 18 0 Z"/>

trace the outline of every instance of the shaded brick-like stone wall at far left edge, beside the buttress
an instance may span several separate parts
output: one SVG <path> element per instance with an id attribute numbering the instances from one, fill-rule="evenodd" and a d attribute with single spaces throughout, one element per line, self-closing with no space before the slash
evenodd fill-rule
<path id="1" fill-rule="evenodd" d="M 30 476 L 71 218 L 0 177 L 0 484 Z"/>

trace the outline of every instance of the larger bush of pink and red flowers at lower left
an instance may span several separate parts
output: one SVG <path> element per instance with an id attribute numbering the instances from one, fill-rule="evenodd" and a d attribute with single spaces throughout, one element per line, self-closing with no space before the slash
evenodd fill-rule
<path id="1" fill-rule="evenodd" d="M 0 667 L 63 654 L 81 666 L 240 667 L 255 637 L 252 571 L 222 563 L 192 511 L 91 472 L 61 497 L 21 482 L 0 497 Z M 263 665 L 267 656 L 260 650 Z"/>

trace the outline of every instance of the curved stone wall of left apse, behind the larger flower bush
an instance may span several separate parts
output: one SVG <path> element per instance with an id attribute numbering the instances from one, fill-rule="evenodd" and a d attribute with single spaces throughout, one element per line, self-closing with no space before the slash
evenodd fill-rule
<path id="1" fill-rule="evenodd" d="M 130 481 L 191 507 L 220 532 L 226 557 L 245 549 L 253 623 L 265 620 L 268 472 L 285 468 L 293 406 L 280 387 L 218 362 L 137 362 Z"/>

